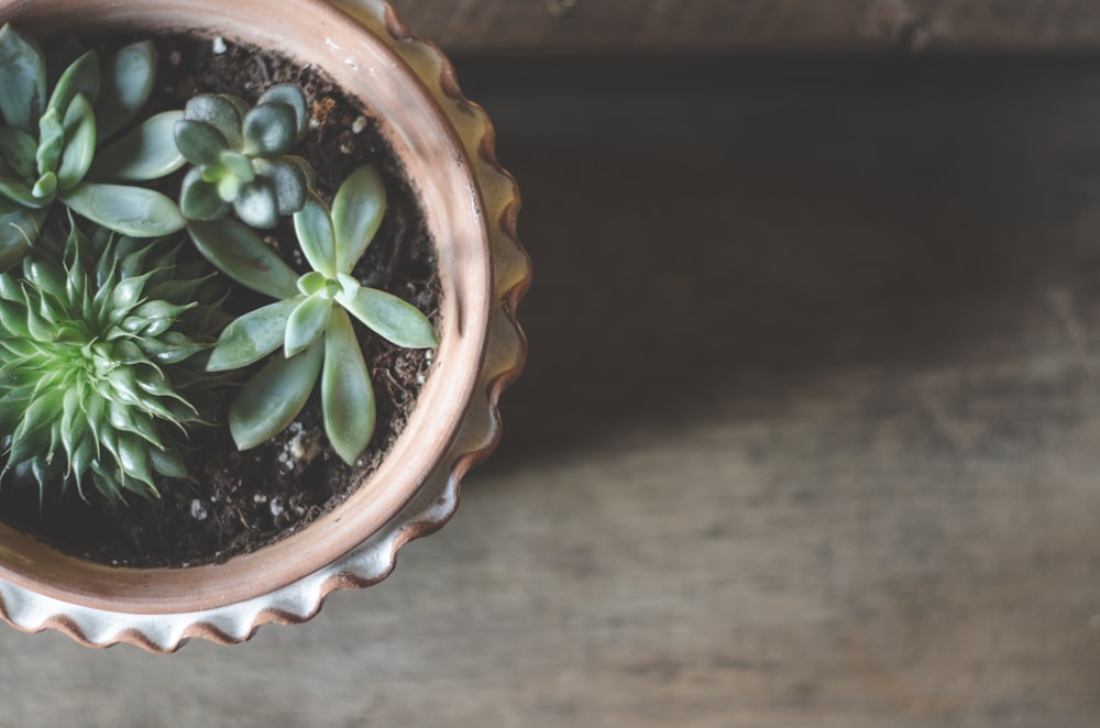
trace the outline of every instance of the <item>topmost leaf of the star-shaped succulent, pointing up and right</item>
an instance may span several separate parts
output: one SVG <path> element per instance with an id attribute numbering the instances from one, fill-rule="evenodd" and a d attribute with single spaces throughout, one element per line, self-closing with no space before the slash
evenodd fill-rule
<path id="1" fill-rule="evenodd" d="M 385 213 L 386 186 L 374 165 L 351 173 L 332 200 L 337 271 L 351 273 L 378 232 Z"/>

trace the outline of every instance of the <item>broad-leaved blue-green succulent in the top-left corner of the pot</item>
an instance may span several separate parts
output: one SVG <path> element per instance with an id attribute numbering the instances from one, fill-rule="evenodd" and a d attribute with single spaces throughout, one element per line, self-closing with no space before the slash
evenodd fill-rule
<path id="1" fill-rule="evenodd" d="M 70 37 L 43 52 L 11 24 L 0 29 L 0 271 L 26 254 L 56 202 L 127 235 L 183 228 L 168 197 L 125 184 L 183 166 L 172 143 L 182 112 L 156 114 L 112 140 L 145 106 L 155 74 L 147 41 L 100 64 Z"/>

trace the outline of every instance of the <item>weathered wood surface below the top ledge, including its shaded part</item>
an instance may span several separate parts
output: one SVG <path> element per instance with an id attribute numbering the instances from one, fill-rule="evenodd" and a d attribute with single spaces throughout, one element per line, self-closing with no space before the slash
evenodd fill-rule
<path id="1" fill-rule="evenodd" d="M 702 68 L 702 66 L 700 67 Z M 1100 64 L 460 68 L 529 369 L 393 577 L 0 726 L 1100 725 Z"/>

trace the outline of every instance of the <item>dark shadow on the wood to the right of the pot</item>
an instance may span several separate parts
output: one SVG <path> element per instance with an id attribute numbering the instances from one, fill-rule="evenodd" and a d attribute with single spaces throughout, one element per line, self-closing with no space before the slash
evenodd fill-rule
<path id="1" fill-rule="evenodd" d="M 1074 310 L 1098 304 L 1075 297 L 1100 273 L 1096 64 L 459 70 L 536 265 L 491 467 L 752 418 L 838 371 L 972 361 L 996 386 L 1052 317 L 1097 313 Z"/>

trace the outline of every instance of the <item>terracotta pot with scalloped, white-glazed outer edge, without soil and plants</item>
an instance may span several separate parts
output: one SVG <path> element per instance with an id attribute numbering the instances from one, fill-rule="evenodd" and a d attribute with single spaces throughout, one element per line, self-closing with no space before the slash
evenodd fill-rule
<path id="1" fill-rule="evenodd" d="M 7 21 L 38 35 L 223 35 L 323 67 L 381 120 L 420 197 L 442 323 L 407 428 L 327 516 L 260 551 L 188 569 L 112 569 L 0 526 L 0 615 L 86 644 L 173 651 L 190 637 L 238 642 L 266 622 L 304 621 L 333 589 L 384 578 L 404 543 L 454 511 L 459 479 L 495 445 L 497 398 L 525 356 L 514 318 L 530 278 L 515 239 L 519 196 L 496 164 L 485 114 L 462 98 L 442 54 L 374 0 L 4 0 Z"/>

